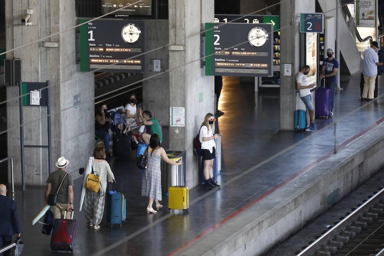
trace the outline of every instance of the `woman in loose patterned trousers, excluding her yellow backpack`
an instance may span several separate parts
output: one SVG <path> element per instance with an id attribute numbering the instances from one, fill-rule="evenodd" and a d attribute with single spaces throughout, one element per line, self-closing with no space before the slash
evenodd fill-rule
<path id="1" fill-rule="evenodd" d="M 103 218 L 105 193 L 107 188 L 107 181 L 113 183 L 115 177 L 109 167 L 108 162 L 105 160 L 105 152 L 103 147 L 96 147 L 93 150 L 94 161 L 92 163 L 93 171 L 100 177 L 99 192 L 86 189 L 84 197 L 84 210 L 87 226 L 93 226 L 94 230 L 100 228 L 100 222 Z M 90 164 L 90 162 L 87 162 Z M 84 174 L 85 175 L 85 172 Z"/>

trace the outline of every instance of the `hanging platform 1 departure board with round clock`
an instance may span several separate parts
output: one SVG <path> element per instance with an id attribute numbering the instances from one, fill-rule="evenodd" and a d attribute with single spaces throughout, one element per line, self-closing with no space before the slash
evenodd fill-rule
<path id="1" fill-rule="evenodd" d="M 80 70 L 144 72 L 144 36 L 142 20 L 87 22 L 80 26 Z"/>

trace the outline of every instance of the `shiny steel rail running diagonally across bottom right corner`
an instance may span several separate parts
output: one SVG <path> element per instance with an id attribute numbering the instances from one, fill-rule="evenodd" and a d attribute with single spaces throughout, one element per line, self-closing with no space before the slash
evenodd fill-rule
<path id="1" fill-rule="evenodd" d="M 297 256 L 308 256 L 313 253 L 321 244 L 328 241 L 332 236 L 336 235 L 340 230 L 342 230 L 345 226 L 347 226 L 351 221 L 361 215 L 364 211 L 366 211 L 371 205 L 375 203 L 378 199 L 380 199 L 384 195 L 384 188 L 377 192 L 374 196 L 369 198 L 365 203 L 359 206 L 356 210 L 346 216 L 343 220 L 337 223 L 333 228 L 328 230 L 324 235 L 320 236 L 316 241 L 308 245 L 303 251 L 301 251 Z"/>

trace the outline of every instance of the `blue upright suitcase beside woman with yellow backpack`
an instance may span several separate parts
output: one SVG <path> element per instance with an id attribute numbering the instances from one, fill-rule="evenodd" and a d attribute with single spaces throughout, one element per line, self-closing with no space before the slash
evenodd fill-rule
<path id="1" fill-rule="evenodd" d="M 107 193 L 107 221 L 108 224 L 122 225 L 126 218 L 126 200 L 122 193 L 111 190 Z"/>

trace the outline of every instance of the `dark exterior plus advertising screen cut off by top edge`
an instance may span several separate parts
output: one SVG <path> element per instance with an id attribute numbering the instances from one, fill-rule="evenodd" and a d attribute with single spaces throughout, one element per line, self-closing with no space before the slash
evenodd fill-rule
<path id="1" fill-rule="evenodd" d="M 113 18 L 156 18 L 156 0 L 101 0 L 101 15 L 114 12 L 108 15 Z"/>

